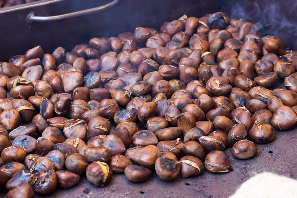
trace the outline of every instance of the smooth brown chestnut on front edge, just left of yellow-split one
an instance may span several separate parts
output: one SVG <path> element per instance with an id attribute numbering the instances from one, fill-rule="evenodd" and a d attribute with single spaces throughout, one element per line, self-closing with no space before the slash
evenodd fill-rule
<path id="1" fill-rule="evenodd" d="M 56 171 L 58 185 L 62 188 L 71 188 L 79 182 L 79 175 L 68 170 Z"/>

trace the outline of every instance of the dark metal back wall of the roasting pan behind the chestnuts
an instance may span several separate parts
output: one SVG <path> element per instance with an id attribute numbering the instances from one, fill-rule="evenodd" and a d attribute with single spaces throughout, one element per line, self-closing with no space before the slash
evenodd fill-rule
<path id="1" fill-rule="evenodd" d="M 0 11 L 0 61 L 24 54 L 41 45 L 46 53 L 58 46 L 71 50 L 93 37 L 117 36 L 134 32 L 138 26 L 157 30 L 165 21 L 183 14 L 201 17 L 224 11 L 257 25 L 263 35 L 281 37 L 290 49 L 297 50 L 297 0 L 120 0 L 102 12 L 56 22 L 26 23 L 26 16 L 54 16 L 93 8 L 111 0 L 42 0 L 31 5 Z"/>

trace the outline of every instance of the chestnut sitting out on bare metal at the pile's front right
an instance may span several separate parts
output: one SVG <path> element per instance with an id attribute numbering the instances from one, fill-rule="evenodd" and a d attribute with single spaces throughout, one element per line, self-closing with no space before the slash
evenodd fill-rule
<path id="1" fill-rule="evenodd" d="M 257 155 L 257 152 L 257 146 L 249 140 L 240 140 L 231 148 L 232 155 L 237 159 L 252 158 Z"/>

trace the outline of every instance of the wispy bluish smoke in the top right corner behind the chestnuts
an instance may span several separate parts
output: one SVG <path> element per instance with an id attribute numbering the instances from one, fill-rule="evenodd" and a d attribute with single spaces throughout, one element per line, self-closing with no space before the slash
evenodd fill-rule
<path id="1" fill-rule="evenodd" d="M 262 36 L 278 36 L 297 50 L 297 0 L 229 0 L 224 9 L 233 18 L 254 23 Z"/>

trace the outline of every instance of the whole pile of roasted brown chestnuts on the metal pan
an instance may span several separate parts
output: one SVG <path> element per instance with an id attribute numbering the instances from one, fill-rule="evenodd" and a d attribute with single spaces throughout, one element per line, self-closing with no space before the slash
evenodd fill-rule
<path id="1" fill-rule="evenodd" d="M 113 174 L 228 172 L 226 148 L 252 158 L 275 129 L 297 124 L 295 69 L 297 52 L 280 38 L 222 12 L 69 52 L 34 47 L 0 63 L 0 187 L 32 198 L 84 175 L 103 187 Z M 277 79 L 285 88 L 271 90 Z"/>

